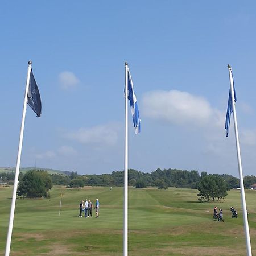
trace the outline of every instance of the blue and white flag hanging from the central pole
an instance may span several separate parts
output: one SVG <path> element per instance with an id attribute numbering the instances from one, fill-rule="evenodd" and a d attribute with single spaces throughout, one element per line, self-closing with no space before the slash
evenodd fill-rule
<path id="1" fill-rule="evenodd" d="M 135 134 L 141 132 L 141 119 L 139 119 L 139 109 L 136 100 L 136 95 L 133 88 L 133 81 L 131 80 L 130 71 L 128 69 L 128 100 L 130 100 L 131 114 L 133 115 L 133 125 L 135 127 Z"/>

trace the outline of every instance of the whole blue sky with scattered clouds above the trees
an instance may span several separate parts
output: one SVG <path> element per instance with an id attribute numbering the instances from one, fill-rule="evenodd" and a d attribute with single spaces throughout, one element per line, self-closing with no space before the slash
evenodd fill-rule
<path id="1" fill-rule="evenodd" d="M 141 114 L 129 112 L 129 168 L 238 176 L 233 121 L 225 138 L 228 64 L 237 92 L 244 175 L 255 175 L 256 3 L 253 1 L 3 1 L 0 166 L 14 167 L 27 76 L 22 167 L 123 170 L 125 61 Z"/>

